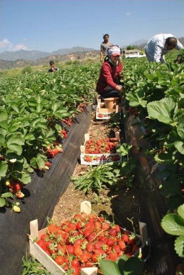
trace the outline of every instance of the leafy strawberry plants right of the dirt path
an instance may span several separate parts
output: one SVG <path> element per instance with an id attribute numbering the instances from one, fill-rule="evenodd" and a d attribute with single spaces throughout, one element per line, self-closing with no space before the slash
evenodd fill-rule
<path id="1" fill-rule="evenodd" d="M 162 180 L 159 186 L 166 197 L 168 209 L 173 211 L 183 203 L 184 195 L 184 64 L 174 64 L 169 56 L 166 64 L 148 62 L 146 59 L 125 62 L 124 85 L 126 88 L 127 111 L 139 116 L 146 128 L 143 137 L 147 138 L 152 154 L 164 169 L 158 173 Z M 142 137 L 137 137 L 141 139 Z M 182 207 L 180 207 L 182 208 Z M 172 216 L 174 215 L 174 216 Z M 183 220 L 180 218 L 180 232 L 176 221 L 183 213 L 171 214 L 162 222 L 166 232 L 181 235 L 175 249 L 183 256 Z"/>

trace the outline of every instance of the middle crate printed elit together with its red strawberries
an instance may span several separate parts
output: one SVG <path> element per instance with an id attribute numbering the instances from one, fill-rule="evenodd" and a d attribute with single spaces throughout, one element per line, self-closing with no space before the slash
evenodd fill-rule
<path id="1" fill-rule="evenodd" d="M 84 145 L 81 145 L 81 164 L 99 165 L 108 162 L 122 161 L 120 153 L 116 152 L 120 145 L 119 132 L 115 132 L 115 138 L 90 139 L 85 134 Z"/>

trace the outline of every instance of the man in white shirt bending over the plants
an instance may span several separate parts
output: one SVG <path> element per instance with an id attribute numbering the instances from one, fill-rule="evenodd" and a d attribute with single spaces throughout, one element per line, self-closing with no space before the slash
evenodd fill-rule
<path id="1" fill-rule="evenodd" d="M 156 34 L 147 42 L 145 54 L 149 61 L 165 63 L 164 54 L 174 48 L 179 51 L 183 45 L 173 34 Z"/>

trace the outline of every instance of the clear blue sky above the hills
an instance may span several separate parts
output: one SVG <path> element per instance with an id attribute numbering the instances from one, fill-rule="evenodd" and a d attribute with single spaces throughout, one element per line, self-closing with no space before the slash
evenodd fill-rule
<path id="1" fill-rule="evenodd" d="M 128 45 L 154 34 L 184 36 L 183 0 L 1 0 L 0 52 L 99 49 L 102 34 Z"/>

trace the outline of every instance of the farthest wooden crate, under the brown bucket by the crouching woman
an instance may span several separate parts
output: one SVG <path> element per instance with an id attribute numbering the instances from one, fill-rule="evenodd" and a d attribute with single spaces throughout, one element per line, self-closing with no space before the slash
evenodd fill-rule
<path id="1" fill-rule="evenodd" d="M 110 114 L 118 113 L 120 111 L 121 111 L 121 108 L 119 108 L 118 105 L 116 105 L 115 109 L 108 109 L 105 107 L 105 103 L 101 102 L 101 99 L 97 100 L 96 119 L 98 120 L 109 119 Z"/>

